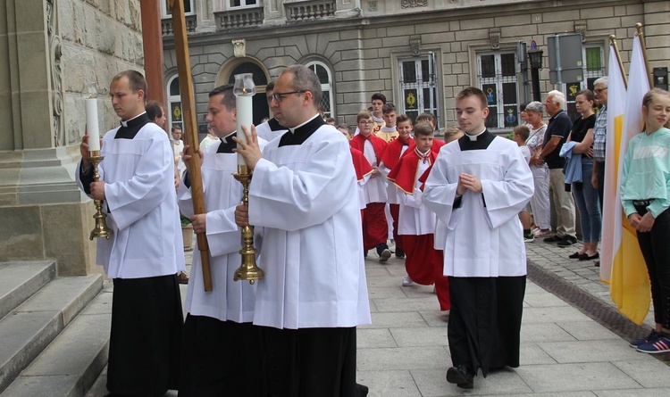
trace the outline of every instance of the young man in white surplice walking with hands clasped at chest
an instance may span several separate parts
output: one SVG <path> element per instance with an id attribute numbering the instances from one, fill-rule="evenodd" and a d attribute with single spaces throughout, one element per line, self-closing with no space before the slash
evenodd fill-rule
<path id="1" fill-rule="evenodd" d="M 531 199 L 528 163 L 514 142 L 484 122 L 486 95 L 468 87 L 456 95 L 465 136 L 440 149 L 423 201 L 447 225 L 444 274 L 449 277 L 447 381 L 473 388 L 479 368 L 519 366 L 526 258 L 517 217 Z"/>

